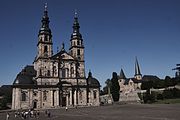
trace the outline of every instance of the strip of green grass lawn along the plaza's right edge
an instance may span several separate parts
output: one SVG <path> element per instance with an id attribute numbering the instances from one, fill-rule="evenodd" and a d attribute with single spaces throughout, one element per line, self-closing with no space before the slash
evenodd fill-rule
<path id="1" fill-rule="evenodd" d="M 176 104 L 180 103 L 180 98 L 178 99 L 165 99 L 165 100 L 158 100 L 155 104 Z"/>

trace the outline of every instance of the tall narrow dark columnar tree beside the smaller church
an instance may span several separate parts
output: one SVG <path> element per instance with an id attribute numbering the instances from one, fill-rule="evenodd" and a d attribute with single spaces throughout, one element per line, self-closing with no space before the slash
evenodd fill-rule
<path id="1" fill-rule="evenodd" d="M 112 73 L 111 79 L 111 94 L 114 101 L 119 101 L 119 83 L 118 83 L 118 76 L 116 72 Z"/>

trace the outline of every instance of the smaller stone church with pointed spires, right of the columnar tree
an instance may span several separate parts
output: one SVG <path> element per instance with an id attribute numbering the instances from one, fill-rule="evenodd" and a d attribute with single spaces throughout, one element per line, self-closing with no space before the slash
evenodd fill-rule
<path id="1" fill-rule="evenodd" d="M 137 58 L 134 77 L 126 78 L 123 69 L 121 69 L 118 82 L 120 86 L 119 102 L 140 102 L 138 92 L 141 90 L 142 74 Z"/>

